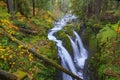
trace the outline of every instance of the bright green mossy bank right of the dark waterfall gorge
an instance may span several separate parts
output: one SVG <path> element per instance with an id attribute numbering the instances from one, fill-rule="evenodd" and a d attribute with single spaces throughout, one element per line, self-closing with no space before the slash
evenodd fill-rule
<path id="1" fill-rule="evenodd" d="M 94 50 L 93 45 L 97 45 L 98 51 L 91 57 L 91 65 L 97 68 L 98 79 L 100 80 L 119 80 L 120 64 L 119 61 L 119 38 L 116 38 L 116 24 L 106 24 L 97 35 L 89 38 L 90 50 Z M 98 41 L 96 43 L 96 39 Z"/>

